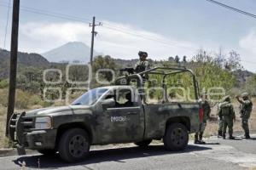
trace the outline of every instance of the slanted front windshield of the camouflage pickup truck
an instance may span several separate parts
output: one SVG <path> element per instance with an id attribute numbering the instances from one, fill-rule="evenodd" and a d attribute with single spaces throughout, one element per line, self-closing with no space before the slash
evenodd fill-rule
<path id="1" fill-rule="evenodd" d="M 74 100 L 71 105 L 93 105 L 107 90 L 108 88 L 91 89 L 81 95 L 78 99 Z"/>

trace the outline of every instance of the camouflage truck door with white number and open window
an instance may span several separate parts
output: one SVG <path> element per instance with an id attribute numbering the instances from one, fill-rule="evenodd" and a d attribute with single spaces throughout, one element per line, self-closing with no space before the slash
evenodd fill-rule
<path id="1" fill-rule="evenodd" d="M 143 139 L 144 116 L 142 105 L 134 101 L 130 89 L 115 90 L 106 99 L 113 98 L 115 105 L 103 108 L 97 116 L 99 141 L 102 143 L 132 142 Z M 133 99 L 132 99 L 133 98 Z"/>

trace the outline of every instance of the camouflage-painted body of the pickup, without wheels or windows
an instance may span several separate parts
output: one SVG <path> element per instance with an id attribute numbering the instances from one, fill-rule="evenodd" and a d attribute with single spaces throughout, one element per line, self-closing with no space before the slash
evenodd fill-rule
<path id="1" fill-rule="evenodd" d="M 105 87 L 106 88 L 106 87 Z M 110 90 L 131 88 L 130 86 L 111 86 Z M 135 88 L 133 88 L 134 91 Z M 131 107 L 104 108 L 102 100 L 108 92 L 94 105 L 68 105 L 51 107 L 26 112 L 22 120 L 31 120 L 32 127 L 20 129 L 18 143 L 26 148 L 54 149 L 55 141 L 60 139 L 58 130 L 72 125 L 84 127 L 90 134 L 90 144 L 113 144 L 138 142 L 144 139 L 161 139 L 165 135 L 168 122 L 181 122 L 194 133 L 199 126 L 199 103 L 166 103 L 143 105 L 141 100 Z M 137 97 L 139 99 L 139 97 Z M 51 129 L 34 129 L 38 116 L 50 116 Z M 19 127 L 22 123 L 15 124 Z M 12 136 L 15 135 L 12 128 Z M 21 137 L 20 137 L 21 136 Z M 22 138 L 22 140 L 21 140 Z M 15 139 L 15 138 L 12 138 Z M 35 142 L 42 142 L 36 146 Z"/>

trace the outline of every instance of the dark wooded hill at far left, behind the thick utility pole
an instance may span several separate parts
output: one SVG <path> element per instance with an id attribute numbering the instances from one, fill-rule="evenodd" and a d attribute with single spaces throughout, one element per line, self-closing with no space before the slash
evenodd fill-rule
<path id="1" fill-rule="evenodd" d="M 9 59 L 10 52 L 0 48 L 0 78 L 9 77 Z M 18 53 L 19 66 L 33 66 L 38 68 L 48 67 L 50 65 L 47 59 L 40 54 Z"/>

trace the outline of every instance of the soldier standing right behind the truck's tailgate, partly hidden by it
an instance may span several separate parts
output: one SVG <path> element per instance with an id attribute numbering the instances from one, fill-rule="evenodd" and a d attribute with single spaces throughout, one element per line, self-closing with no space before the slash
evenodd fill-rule
<path id="1" fill-rule="evenodd" d="M 194 143 L 195 144 L 206 144 L 206 142 L 202 140 L 202 136 L 207 127 L 207 119 L 210 118 L 210 113 L 211 113 L 211 107 L 207 100 L 206 93 L 201 94 L 201 99 L 199 99 L 199 102 L 201 103 L 201 106 L 202 106 L 203 117 L 202 117 L 202 122 L 199 125 L 199 130 L 198 130 L 198 132 L 195 133 L 195 142 Z"/>

